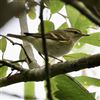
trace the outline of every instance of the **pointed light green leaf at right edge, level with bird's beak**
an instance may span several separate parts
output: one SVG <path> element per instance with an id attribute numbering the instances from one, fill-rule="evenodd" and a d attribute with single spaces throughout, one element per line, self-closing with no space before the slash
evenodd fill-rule
<path id="1" fill-rule="evenodd" d="M 88 43 L 94 46 L 100 46 L 100 32 L 84 37 L 80 40 L 80 42 Z"/>

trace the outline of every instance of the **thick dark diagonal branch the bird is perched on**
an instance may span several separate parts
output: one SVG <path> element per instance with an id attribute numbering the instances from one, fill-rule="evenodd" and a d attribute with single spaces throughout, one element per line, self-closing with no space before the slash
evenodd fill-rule
<path id="1" fill-rule="evenodd" d="M 73 61 L 60 62 L 50 66 L 50 77 L 59 74 L 65 74 L 73 71 L 79 71 L 85 68 L 94 68 L 100 65 L 100 54 L 81 58 Z M 0 87 L 8 86 L 18 82 L 43 81 L 46 79 L 45 67 L 25 70 L 22 73 L 0 79 Z"/>

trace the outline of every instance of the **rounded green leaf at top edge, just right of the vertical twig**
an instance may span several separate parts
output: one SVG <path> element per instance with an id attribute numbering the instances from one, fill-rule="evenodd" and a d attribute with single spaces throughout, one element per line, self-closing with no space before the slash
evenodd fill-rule
<path id="1" fill-rule="evenodd" d="M 57 13 L 61 10 L 61 8 L 64 6 L 64 3 L 61 0 L 50 0 L 49 1 L 49 8 L 51 10 L 51 13 Z"/>

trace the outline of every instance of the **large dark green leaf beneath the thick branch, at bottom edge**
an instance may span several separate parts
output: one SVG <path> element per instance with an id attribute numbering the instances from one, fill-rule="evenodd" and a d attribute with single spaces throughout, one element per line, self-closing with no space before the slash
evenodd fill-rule
<path id="1" fill-rule="evenodd" d="M 59 75 L 52 78 L 53 95 L 59 100 L 95 100 L 74 78 Z"/>

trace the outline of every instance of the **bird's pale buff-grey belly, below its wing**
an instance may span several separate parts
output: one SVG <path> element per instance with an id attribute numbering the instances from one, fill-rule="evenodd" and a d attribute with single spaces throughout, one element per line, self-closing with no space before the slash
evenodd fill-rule
<path id="1" fill-rule="evenodd" d="M 42 41 L 35 42 L 34 47 L 37 49 L 37 51 L 43 54 Z M 64 54 L 68 53 L 72 49 L 72 47 L 73 47 L 72 42 L 70 42 L 69 44 L 57 42 L 53 40 L 48 40 L 47 42 L 48 55 L 54 57 L 63 56 Z"/>

